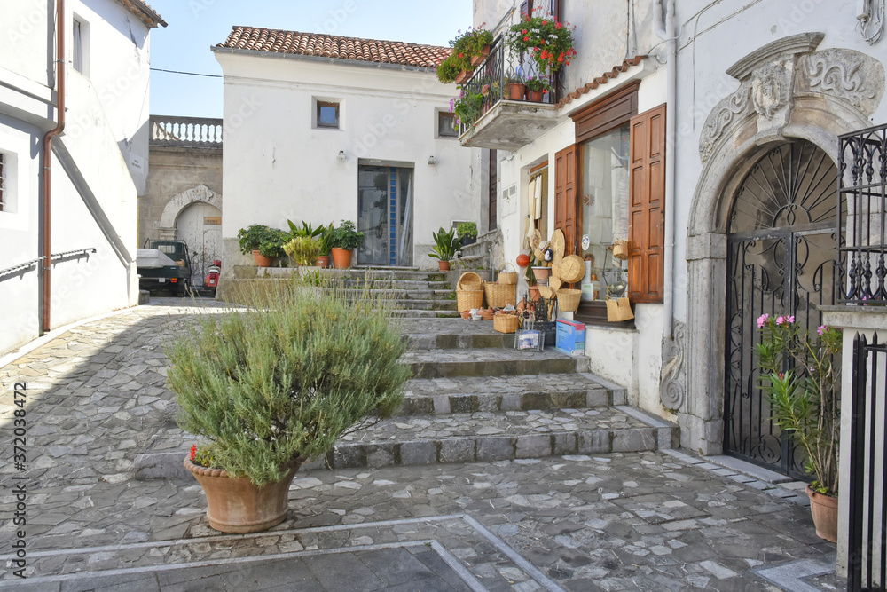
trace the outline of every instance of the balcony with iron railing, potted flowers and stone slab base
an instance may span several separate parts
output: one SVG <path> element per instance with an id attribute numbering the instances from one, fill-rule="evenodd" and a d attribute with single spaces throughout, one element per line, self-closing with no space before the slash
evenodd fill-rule
<path id="1" fill-rule="evenodd" d="M 569 24 L 524 16 L 499 36 L 469 29 L 451 45 L 437 76 L 459 84 L 450 107 L 463 146 L 516 150 L 557 124 L 559 74 L 576 56 Z"/>

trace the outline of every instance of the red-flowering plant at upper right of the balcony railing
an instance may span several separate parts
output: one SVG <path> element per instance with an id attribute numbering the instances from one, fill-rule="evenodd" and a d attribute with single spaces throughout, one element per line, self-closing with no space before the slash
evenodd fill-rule
<path id="1" fill-rule="evenodd" d="M 515 53 L 529 53 L 540 72 L 553 74 L 576 57 L 572 29 L 551 15 L 528 15 L 508 29 L 508 46 Z"/>

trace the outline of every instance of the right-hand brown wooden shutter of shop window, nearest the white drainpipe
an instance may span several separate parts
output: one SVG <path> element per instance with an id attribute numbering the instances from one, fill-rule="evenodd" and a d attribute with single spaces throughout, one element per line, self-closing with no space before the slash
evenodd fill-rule
<path id="1" fill-rule="evenodd" d="M 663 301 L 665 106 L 632 117 L 628 290 L 632 302 Z"/>

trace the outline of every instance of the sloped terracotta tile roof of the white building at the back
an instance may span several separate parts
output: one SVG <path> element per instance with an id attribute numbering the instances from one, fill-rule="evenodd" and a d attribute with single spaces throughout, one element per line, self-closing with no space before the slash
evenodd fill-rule
<path id="1" fill-rule="evenodd" d="M 228 39 L 216 47 L 290 53 L 318 58 L 354 59 L 412 67 L 437 67 L 438 62 L 449 56 L 451 52 L 451 48 L 439 45 L 258 27 L 234 27 Z"/>

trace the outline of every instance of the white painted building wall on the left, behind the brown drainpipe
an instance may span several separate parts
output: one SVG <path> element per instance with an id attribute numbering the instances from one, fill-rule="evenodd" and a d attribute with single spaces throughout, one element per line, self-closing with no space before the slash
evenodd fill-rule
<path id="1" fill-rule="evenodd" d="M 0 21 L 0 153 L 6 163 L 0 271 L 43 256 L 42 142 L 58 121 L 55 5 L 8 4 Z M 102 228 L 54 150 L 51 251 L 96 252 L 53 261 L 51 327 L 45 329 L 137 303 L 131 257 L 137 197 L 147 174 L 150 28 L 114 0 L 68 0 L 64 27 L 67 124 L 53 143 L 67 149 L 82 176 L 77 183 L 88 188 L 110 224 Z M 40 334 L 39 276 L 40 264 L 0 276 L 0 352 Z"/>

